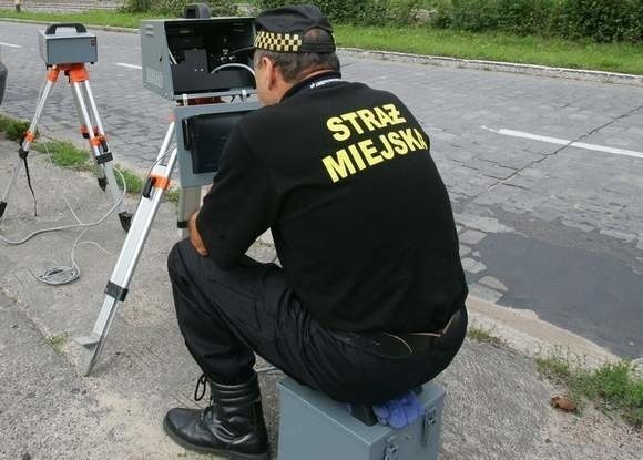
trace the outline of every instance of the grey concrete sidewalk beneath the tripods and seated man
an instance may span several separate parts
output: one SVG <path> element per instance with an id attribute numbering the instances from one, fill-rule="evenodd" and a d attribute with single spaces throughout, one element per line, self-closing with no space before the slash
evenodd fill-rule
<path id="1" fill-rule="evenodd" d="M 0 141 L 0 183 L 7 182 L 16 160 L 16 144 Z M 63 193 L 83 221 L 110 207 L 108 195 L 88 174 L 55 168 L 39 155 L 32 174 L 40 216 L 32 216 L 31 195 L 20 180 L 0 223 L 6 237 L 71 223 Z M 129 202 L 131 208 L 134 204 Z M 82 350 L 72 338 L 91 330 L 102 304 L 124 239 L 118 219 L 83 238 L 111 254 L 79 246 L 82 276 L 62 287 L 45 286 L 35 275 L 48 265 L 68 263 L 78 232 L 43 235 L 19 247 L 0 243 L 0 458 L 200 458 L 161 429 L 169 408 L 194 405 L 198 376 L 176 326 L 165 269 L 177 239 L 174 212 L 173 204 L 162 205 L 130 296 L 90 378 L 79 377 Z M 273 252 L 265 238 L 251 254 L 267 260 Z M 468 340 L 439 377 L 448 395 L 442 459 L 641 459 L 643 440 L 621 421 L 593 410 L 580 418 L 554 411 L 549 400 L 560 389 L 539 377 L 529 356 L 554 344 L 586 355 L 589 362 L 612 355 L 524 311 L 477 299 L 470 307 L 473 323 L 494 328 L 516 348 Z M 278 378 L 261 379 L 273 447 Z"/>

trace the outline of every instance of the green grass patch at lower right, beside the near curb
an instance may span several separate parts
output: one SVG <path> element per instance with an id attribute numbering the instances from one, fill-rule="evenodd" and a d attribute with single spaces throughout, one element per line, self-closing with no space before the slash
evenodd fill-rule
<path id="1" fill-rule="evenodd" d="M 580 408 L 586 399 L 604 412 L 621 415 L 637 430 L 643 428 L 643 380 L 634 377 L 632 364 L 622 361 L 589 370 L 560 357 L 541 357 L 537 365 L 545 377 L 565 385 L 569 398 Z"/>

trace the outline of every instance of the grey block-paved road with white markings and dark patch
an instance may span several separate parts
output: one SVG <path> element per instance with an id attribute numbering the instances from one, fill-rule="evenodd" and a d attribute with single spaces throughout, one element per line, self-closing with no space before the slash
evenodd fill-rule
<path id="1" fill-rule="evenodd" d="M 0 22 L 2 112 L 32 116 L 42 25 Z M 146 170 L 171 103 L 142 89 L 139 37 L 96 32 L 92 86 L 120 163 Z M 626 358 L 643 356 L 643 88 L 346 58 L 344 76 L 398 94 L 431 137 L 471 293 Z M 60 84 L 45 133 L 73 136 Z M 3 184 L 7 177 L 0 177 Z M 400 197 L 404 200 L 404 197 Z"/>

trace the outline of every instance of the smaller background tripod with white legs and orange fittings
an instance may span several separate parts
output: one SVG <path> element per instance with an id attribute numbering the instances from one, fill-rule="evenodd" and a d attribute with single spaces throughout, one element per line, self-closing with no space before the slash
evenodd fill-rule
<path id="1" fill-rule="evenodd" d="M 27 133 L 24 133 L 22 140 L 20 141 L 20 147 L 18 149 L 19 161 L 18 163 L 16 163 L 16 166 L 13 167 L 13 172 L 11 174 L 11 178 L 9 180 L 9 184 L 4 190 L 2 200 L 0 200 L 0 217 L 2 217 L 2 215 L 4 214 L 9 195 L 11 194 L 13 185 L 16 184 L 16 181 L 20 175 L 22 167 L 24 167 L 24 171 L 27 173 L 27 181 L 31 190 L 31 193 L 33 194 L 33 188 L 31 187 L 31 177 L 29 174 L 29 165 L 27 163 L 27 156 L 29 155 L 31 144 L 35 140 L 35 134 L 38 132 L 38 123 L 40 121 L 40 117 L 42 116 L 44 105 L 47 104 L 47 99 L 49 98 L 51 90 L 53 89 L 53 85 L 57 83 L 61 72 L 63 72 L 68 76 L 69 83 L 71 85 L 72 95 L 74 98 L 78 115 L 81 122 L 80 132 L 90 144 L 90 149 L 93 154 L 92 160 L 94 162 L 99 186 L 103 191 L 109 188 L 109 192 L 112 195 L 114 203 L 118 202 L 120 198 L 120 192 L 116 184 L 116 178 L 114 176 L 114 170 L 112 166 L 113 155 L 110 151 L 105 132 L 103 130 L 103 125 L 99 116 L 99 111 L 90 86 L 89 73 L 86 71 L 85 64 L 84 63 L 57 64 L 51 65 L 47 72 L 47 81 L 44 84 L 44 89 L 42 90 L 40 98 L 38 99 L 35 114 L 33 115 L 33 120 L 29 125 L 29 130 L 27 131 Z M 125 232 L 129 231 L 132 214 L 125 211 L 125 206 L 122 203 L 118 207 L 118 213 L 121 226 Z"/>

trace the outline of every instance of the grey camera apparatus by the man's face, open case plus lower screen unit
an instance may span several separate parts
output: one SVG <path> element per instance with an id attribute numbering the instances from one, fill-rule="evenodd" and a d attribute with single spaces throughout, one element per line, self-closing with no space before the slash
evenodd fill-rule
<path id="1" fill-rule="evenodd" d="M 259 108 L 252 69 L 254 18 L 210 18 L 192 4 L 185 18 L 141 22 L 143 86 L 175 102 L 182 187 L 212 184 L 235 124 Z M 224 102 L 229 101 L 229 102 Z"/>

